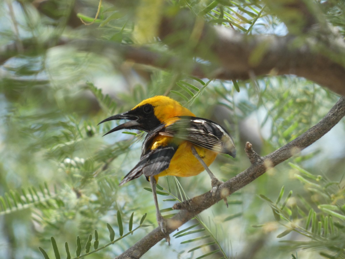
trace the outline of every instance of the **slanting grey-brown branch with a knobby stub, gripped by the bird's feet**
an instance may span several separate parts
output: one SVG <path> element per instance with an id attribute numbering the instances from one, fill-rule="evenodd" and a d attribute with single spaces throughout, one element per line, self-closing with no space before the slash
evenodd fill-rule
<path id="1" fill-rule="evenodd" d="M 315 141 L 325 135 L 344 116 L 345 97 L 341 97 L 318 124 L 310 128 L 299 137 L 295 138 L 295 140 L 264 157 L 256 154 L 252 149 L 252 145 L 247 142 L 245 151 L 250 162 L 252 163 L 250 167 L 236 175 L 234 178 L 231 178 L 230 180 L 221 184 L 214 197 L 210 192 L 206 192 L 188 201 L 184 201 L 183 203 L 175 204 L 173 208 L 181 209 L 181 211 L 174 215 L 174 217 L 172 217 L 169 221 L 168 233 L 170 234 L 171 232 L 175 231 L 184 223 L 195 217 L 195 215 L 223 199 L 224 196 L 230 195 L 231 193 L 243 188 L 245 185 L 264 174 L 267 170 L 289 159 L 293 155 L 298 154 L 301 150 L 313 144 Z M 152 246 L 154 246 L 164 237 L 165 236 L 161 232 L 160 228 L 156 228 L 116 258 L 140 258 L 145 252 L 147 252 Z"/>

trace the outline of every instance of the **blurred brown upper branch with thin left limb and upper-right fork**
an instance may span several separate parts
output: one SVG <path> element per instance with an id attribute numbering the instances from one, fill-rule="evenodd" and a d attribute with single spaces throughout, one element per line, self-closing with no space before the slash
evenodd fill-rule
<path id="1" fill-rule="evenodd" d="M 292 32 L 285 37 L 245 35 L 208 25 L 184 10 L 175 16 L 166 15 L 161 20 L 159 37 L 170 48 L 178 50 L 174 54 L 102 41 L 91 44 L 97 45 L 96 48 L 84 48 L 90 40 L 85 43 L 77 41 L 77 47 L 103 54 L 107 54 L 109 49 L 115 50 L 120 57 L 135 63 L 179 69 L 200 78 L 249 79 L 250 75 L 294 74 L 345 95 L 345 43 L 327 25 L 318 4 L 309 0 L 265 2 L 281 19 L 286 16 L 285 24 L 290 32 L 297 26 L 299 33 Z M 294 20 L 296 17 L 302 21 Z M 299 36 L 303 32 L 308 34 Z M 37 39 L 25 39 L 22 42 L 21 53 L 15 43 L 1 46 L 0 64 L 15 55 L 39 54 L 46 48 L 68 41 L 53 39 L 42 44 Z M 209 63 L 198 63 L 195 56 Z"/>

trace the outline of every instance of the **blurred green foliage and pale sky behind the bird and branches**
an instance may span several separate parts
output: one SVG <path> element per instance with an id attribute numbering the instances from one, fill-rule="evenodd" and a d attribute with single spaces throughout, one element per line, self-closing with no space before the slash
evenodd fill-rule
<path id="1" fill-rule="evenodd" d="M 329 3 L 322 6 L 328 21 L 343 33 L 344 3 L 322 2 Z M 80 255 L 91 242 L 90 252 L 101 249 L 87 258 L 114 258 L 157 226 L 146 179 L 118 187 L 139 161 L 145 133 L 102 137 L 118 122 L 97 126 L 145 98 L 168 95 L 227 128 L 237 156 L 219 155 L 210 166 L 221 180 L 250 165 L 247 141 L 267 155 L 315 125 L 339 98 L 296 76 L 199 79 L 182 64 L 162 70 L 124 60 L 109 48 L 145 43 L 150 50 L 168 51 L 150 35 L 166 6 L 186 8 L 229 30 L 286 35 L 265 2 L 108 0 L 94 20 L 98 5 L 0 3 L 0 258 L 43 258 L 38 247 L 55 258 L 51 237 L 61 257 L 67 256 L 67 242 L 74 258 L 77 236 Z M 78 42 L 88 39 L 98 41 L 82 50 Z M 231 195 L 229 208 L 215 204 L 179 229 L 190 228 L 172 237 L 171 246 L 162 240 L 144 258 L 343 258 L 344 122 Z M 177 212 L 168 209 L 176 201 L 210 190 L 206 172 L 161 178 L 159 184 L 160 209 L 168 216 Z M 103 248 L 111 229 L 120 240 Z"/>

